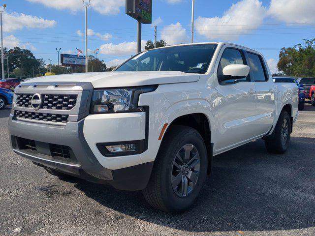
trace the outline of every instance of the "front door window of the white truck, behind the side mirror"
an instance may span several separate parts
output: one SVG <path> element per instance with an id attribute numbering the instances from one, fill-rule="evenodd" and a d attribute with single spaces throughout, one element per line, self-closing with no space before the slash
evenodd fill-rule
<path id="1" fill-rule="evenodd" d="M 250 77 L 245 77 L 244 79 L 231 79 L 231 80 L 225 80 L 224 82 L 221 82 L 221 77 L 223 76 L 223 68 L 227 65 L 236 65 L 236 64 L 241 64 L 241 65 L 246 65 L 245 58 L 243 56 L 243 53 L 235 48 L 226 48 L 221 56 L 221 60 L 219 63 L 218 67 L 218 78 L 219 78 L 219 83 L 222 84 L 228 84 L 228 83 L 235 83 L 239 81 L 250 81 Z"/>

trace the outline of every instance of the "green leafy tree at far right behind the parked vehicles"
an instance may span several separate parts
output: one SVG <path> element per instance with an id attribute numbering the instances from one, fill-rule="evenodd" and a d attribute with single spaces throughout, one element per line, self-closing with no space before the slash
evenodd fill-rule
<path id="1" fill-rule="evenodd" d="M 315 39 L 304 39 L 304 45 L 282 48 L 277 67 L 286 75 L 315 77 Z"/>

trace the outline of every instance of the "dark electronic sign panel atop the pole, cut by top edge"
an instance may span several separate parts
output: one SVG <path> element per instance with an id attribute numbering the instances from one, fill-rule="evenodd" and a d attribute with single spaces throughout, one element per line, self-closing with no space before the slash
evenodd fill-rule
<path id="1" fill-rule="evenodd" d="M 152 0 L 126 0 L 126 14 L 142 24 L 151 24 Z"/>

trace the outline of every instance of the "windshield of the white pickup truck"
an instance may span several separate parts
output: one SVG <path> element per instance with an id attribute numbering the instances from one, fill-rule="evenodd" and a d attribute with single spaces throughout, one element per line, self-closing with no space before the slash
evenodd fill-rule
<path id="1" fill-rule="evenodd" d="M 159 48 L 142 52 L 129 59 L 115 71 L 182 71 L 206 73 L 215 44 Z"/>

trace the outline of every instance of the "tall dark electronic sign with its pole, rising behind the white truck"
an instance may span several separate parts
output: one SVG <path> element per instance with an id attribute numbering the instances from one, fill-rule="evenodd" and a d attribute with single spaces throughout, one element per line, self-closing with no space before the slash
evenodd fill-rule
<path id="1" fill-rule="evenodd" d="M 152 23 L 152 0 L 126 0 L 126 14 L 137 20 L 137 52 L 141 52 L 142 24 Z"/>

